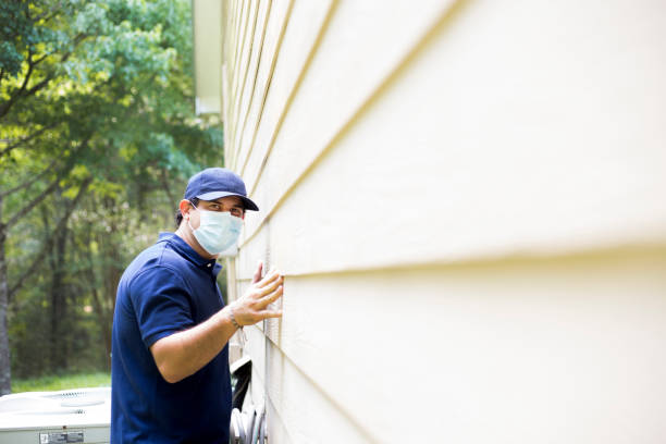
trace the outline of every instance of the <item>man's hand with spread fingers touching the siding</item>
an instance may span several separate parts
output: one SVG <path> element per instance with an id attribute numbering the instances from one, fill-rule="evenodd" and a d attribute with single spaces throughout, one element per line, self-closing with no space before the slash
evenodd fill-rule
<path id="1" fill-rule="evenodd" d="M 261 279 L 263 263 L 259 262 L 249 289 L 230 305 L 236 322 L 251 325 L 267 318 L 282 317 L 282 310 L 269 310 L 268 306 L 282 296 L 283 276 L 278 270 L 269 272 Z"/>

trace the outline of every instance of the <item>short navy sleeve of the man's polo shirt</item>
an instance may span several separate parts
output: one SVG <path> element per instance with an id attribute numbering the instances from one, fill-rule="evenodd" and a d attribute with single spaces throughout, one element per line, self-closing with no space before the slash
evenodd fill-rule
<path id="1" fill-rule="evenodd" d="M 147 348 L 158 340 L 194 326 L 190 291 L 173 269 L 152 267 L 130 283 L 141 340 Z"/>

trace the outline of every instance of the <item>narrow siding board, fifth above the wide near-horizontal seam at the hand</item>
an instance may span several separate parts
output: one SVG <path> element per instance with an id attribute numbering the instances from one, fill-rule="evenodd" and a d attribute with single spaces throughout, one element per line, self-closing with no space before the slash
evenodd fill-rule
<path id="1" fill-rule="evenodd" d="M 248 61 L 247 76 L 244 81 L 242 89 L 238 94 L 238 107 L 236 113 L 238 115 L 234 126 L 230 130 L 234 132 L 233 146 L 236 147 L 239 144 L 243 128 L 247 122 L 247 114 L 250 108 L 250 100 L 252 100 L 255 94 L 255 87 L 257 86 L 257 71 L 259 69 L 259 61 L 263 50 L 263 41 L 266 36 L 266 28 L 268 24 L 269 11 L 271 9 L 270 1 L 260 1 L 259 10 L 257 12 L 257 20 L 255 25 L 255 33 L 252 36 L 251 53 Z M 227 161 L 227 163 L 231 163 Z"/>

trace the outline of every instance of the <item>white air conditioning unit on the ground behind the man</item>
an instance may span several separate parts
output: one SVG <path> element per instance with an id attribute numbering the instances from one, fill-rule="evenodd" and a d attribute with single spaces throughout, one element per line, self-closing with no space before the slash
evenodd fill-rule
<path id="1" fill-rule="evenodd" d="M 109 443 L 111 388 L 0 397 L 0 444 Z"/>

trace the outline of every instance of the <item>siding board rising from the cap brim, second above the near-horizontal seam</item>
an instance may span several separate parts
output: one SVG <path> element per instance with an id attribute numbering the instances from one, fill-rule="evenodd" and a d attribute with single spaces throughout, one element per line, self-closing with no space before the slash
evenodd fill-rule
<path id="1" fill-rule="evenodd" d="M 414 2 L 396 1 L 378 8 L 345 1 L 334 9 L 267 160 L 269 175 L 258 171 L 261 162 L 248 166 L 245 175 L 260 207 L 275 205 L 451 3 L 431 0 L 415 8 Z M 259 180 L 264 186 L 258 187 Z"/>

